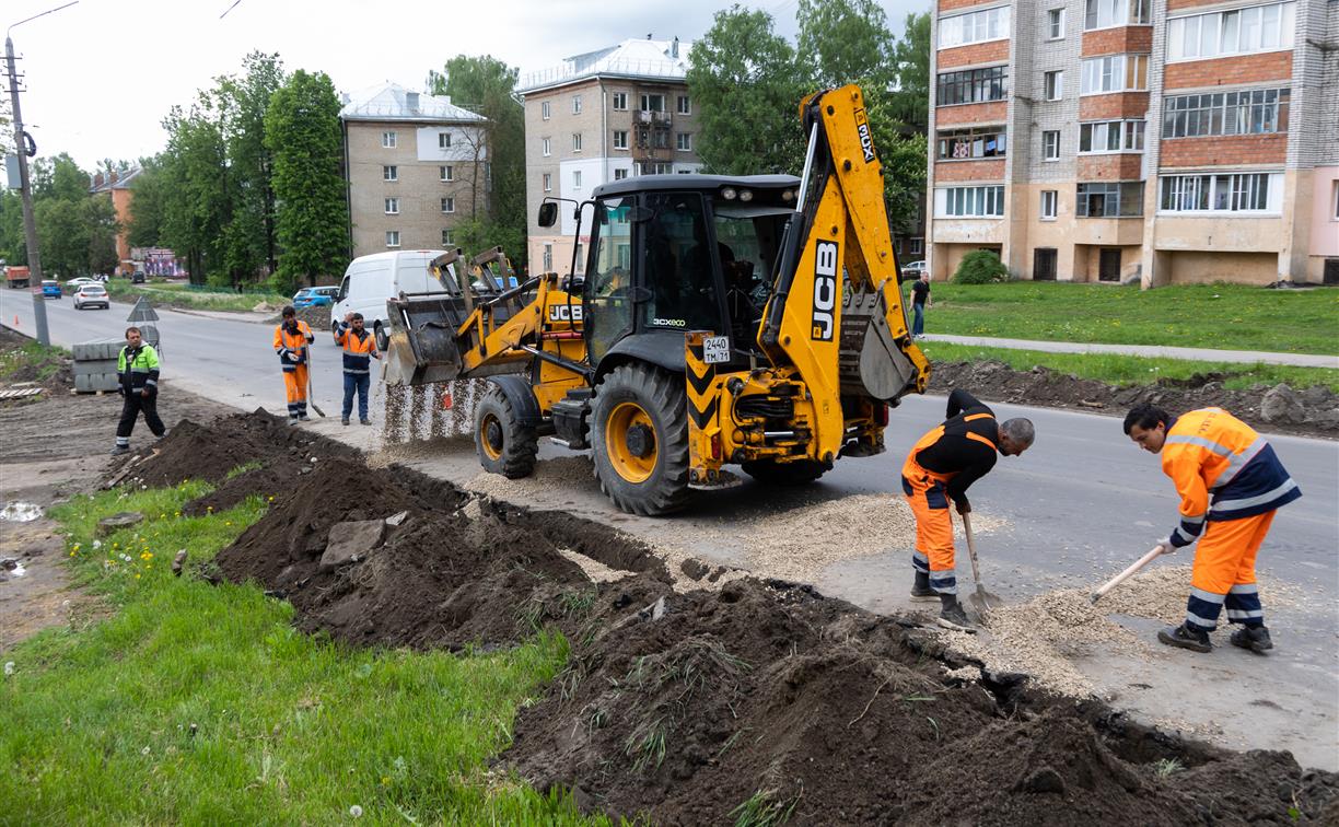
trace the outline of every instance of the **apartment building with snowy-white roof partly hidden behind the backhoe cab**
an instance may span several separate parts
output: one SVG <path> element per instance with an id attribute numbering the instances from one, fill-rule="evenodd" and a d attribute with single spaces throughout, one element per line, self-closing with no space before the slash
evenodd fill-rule
<path id="1" fill-rule="evenodd" d="M 522 76 L 525 190 L 532 272 L 568 272 L 576 222 L 537 223 L 545 197 L 584 201 L 628 175 L 695 173 L 698 118 L 684 75 L 690 43 L 624 40 Z M 589 214 L 586 215 L 589 218 Z M 586 227 L 589 229 L 589 227 Z M 577 272 L 589 236 L 576 244 Z"/>

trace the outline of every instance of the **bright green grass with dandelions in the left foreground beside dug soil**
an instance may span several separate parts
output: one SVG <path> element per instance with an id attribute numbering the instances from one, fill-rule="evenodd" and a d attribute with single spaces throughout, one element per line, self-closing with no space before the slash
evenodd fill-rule
<path id="1" fill-rule="evenodd" d="M 12 823 L 578 823 L 487 761 L 566 660 L 560 636 L 507 652 L 351 649 L 292 628 L 253 585 L 175 578 L 264 506 L 181 517 L 209 491 L 79 498 L 54 509 L 74 578 L 112 616 L 17 645 L 0 678 L 0 800 Z M 96 521 L 146 519 L 94 547 Z"/>

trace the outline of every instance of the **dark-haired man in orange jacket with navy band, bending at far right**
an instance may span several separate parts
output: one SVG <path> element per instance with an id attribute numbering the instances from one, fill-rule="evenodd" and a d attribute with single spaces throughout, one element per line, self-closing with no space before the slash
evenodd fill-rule
<path id="1" fill-rule="evenodd" d="M 1172 416 L 1144 403 L 1126 414 L 1125 432 L 1145 451 L 1162 454 L 1162 472 L 1181 495 L 1181 522 L 1158 541 L 1162 553 L 1189 546 L 1204 530 L 1190 569 L 1185 622 L 1158 632 L 1158 640 L 1208 652 L 1209 633 L 1227 606 L 1228 622 L 1241 624 L 1229 638 L 1233 646 L 1257 654 L 1273 649 L 1255 558 L 1275 511 L 1302 496 L 1273 447 L 1223 408 Z"/>

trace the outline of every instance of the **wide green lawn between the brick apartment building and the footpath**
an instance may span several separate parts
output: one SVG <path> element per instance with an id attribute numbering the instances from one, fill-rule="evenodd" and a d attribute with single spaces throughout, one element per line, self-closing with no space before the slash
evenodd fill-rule
<path id="1" fill-rule="evenodd" d="M 927 333 L 1339 353 L 1339 290 L 1326 288 L 935 282 L 932 298 Z"/>

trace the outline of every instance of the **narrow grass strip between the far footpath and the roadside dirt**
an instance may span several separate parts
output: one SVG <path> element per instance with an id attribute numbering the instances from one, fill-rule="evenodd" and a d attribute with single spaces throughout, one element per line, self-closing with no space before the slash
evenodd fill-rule
<path id="1" fill-rule="evenodd" d="M 1255 384 L 1276 385 L 1287 383 L 1295 389 L 1324 385 L 1339 393 L 1339 371 L 1331 368 L 1295 368 L 1289 365 L 1240 364 L 1224 361 L 1188 361 L 1148 356 L 1117 356 L 1110 353 L 1048 353 L 1046 351 L 1014 351 L 1010 348 L 979 348 L 943 341 L 921 341 L 920 348 L 931 361 L 1003 361 L 1015 371 L 1031 371 L 1036 365 L 1070 373 L 1079 379 L 1095 379 L 1111 385 L 1148 385 L 1160 379 L 1190 379 L 1196 375 L 1221 373 L 1223 385 L 1231 391 L 1244 391 Z"/>

